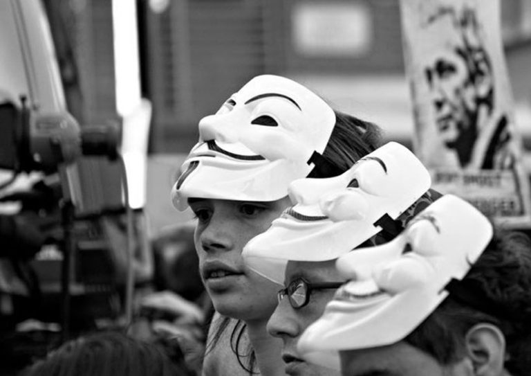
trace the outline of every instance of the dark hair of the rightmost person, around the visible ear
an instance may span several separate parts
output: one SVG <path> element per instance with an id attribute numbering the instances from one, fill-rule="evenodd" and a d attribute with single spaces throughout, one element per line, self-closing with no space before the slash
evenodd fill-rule
<path id="1" fill-rule="evenodd" d="M 498 232 L 460 282 L 474 286 L 477 303 L 449 296 L 405 341 L 448 365 L 465 355 L 465 337 L 478 323 L 496 325 L 506 339 L 505 368 L 531 369 L 531 241 L 523 233 Z"/>

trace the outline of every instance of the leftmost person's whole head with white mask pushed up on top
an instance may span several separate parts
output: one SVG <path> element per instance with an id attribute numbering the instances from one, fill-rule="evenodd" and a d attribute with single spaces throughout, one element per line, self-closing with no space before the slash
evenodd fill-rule
<path id="1" fill-rule="evenodd" d="M 297 82 L 263 75 L 203 118 L 199 131 L 174 204 L 198 218 L 196 251 L 216 310 L 265 319 L 278 287 L 244 265 L 243 246 L 290 205 L 291 181 L 344 172 L 378 147 L 378 128 L 333 111 Z"/>

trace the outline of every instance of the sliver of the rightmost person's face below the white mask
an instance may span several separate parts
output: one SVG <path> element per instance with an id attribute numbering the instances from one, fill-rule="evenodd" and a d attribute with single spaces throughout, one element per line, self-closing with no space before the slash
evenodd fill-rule
<path id="1" fill-rule="evenodd" d="M 463 361 L 443 366 L 409 343 L 339 352 L 343 376 L 466 376 L 471 368 Z"/>

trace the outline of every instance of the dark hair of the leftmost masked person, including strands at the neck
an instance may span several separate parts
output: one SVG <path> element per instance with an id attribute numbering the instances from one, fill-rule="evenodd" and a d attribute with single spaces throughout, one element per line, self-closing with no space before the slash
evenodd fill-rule
<path id="1" fill-rule="evenodd" d="M 382 143 L 382 134 L 378 125 L 337 110 L 334 110 L 334 112 L 335 125 L 322 156 L 341 174 L 351 168 L 363 156 L 378 149 Z M 322 176 L 319 174 L 319 171 L 313 170 L 308 174 L 308 177 L 322 178 L 328 177 L 328 175 Z M 234 325 L 231 325 L 231 323 Z M 243 337 L 247 335 L 247 325 L 245 322 L 239 319 L 221 316 L 221 319 L 216 321 L 214 325 L 216 325 L 216 328 L 214 329 L 212 339 L 207 343 L 205 353 L 212 351 L 221 339 L 223 332 L 229 330 L 232 326 L 230 336 L 232 352 L 234 352 L 239 364 L 245 371 L 250 375 L 256 374 L 256 356 L 254 355 L 254 350 L 250 346 L 246 348 L 241 343 Z"/>

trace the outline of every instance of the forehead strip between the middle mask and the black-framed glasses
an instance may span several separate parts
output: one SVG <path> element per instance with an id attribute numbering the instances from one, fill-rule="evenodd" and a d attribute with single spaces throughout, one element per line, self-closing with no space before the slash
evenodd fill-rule
<path id="1" fill-rule="evenodd" d="M 328 261 L 288 261 L 285 281 L 290 283 L 295 278 L 306 278 L 310 282 L 341 280 L 335 269 L 335 260 Z"/>

